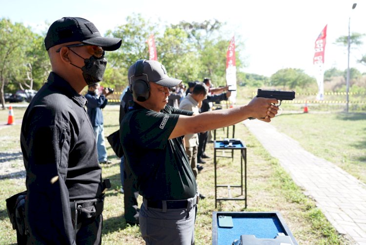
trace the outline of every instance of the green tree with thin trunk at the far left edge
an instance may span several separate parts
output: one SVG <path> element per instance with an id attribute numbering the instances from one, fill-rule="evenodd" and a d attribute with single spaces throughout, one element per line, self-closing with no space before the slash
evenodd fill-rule
<path id="1" fill-rule="evenodd" d="M 22 23 L 0 19 L 0 100 L 5 109 L 4 86 L 24 76 L 26 47 L 32 42 L 32 31 Z"/>

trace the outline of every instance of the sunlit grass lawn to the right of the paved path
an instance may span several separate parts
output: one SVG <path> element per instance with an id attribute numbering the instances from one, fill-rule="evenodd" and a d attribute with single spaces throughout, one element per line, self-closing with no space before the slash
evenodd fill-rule
<path id="1" fill-rule="evenodd" d="M 282 114 L 271 124 L 366 183 L 366 113 Z"/>

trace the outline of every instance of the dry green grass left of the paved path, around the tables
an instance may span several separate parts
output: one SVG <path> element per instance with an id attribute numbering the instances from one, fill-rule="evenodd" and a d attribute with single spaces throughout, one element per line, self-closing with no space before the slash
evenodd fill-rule
<path id="1" fill-rule="evenodd" d="M 2 112 L 0 111 L 1 118 Z M 107 106 L 103 111 L 105 136 L 119 128 L 118 113 L 119 107 Z M 20 114 L 21 110 L 17 109 L 15 115 L 21 118 Z M 288 116 L 281 116 L 277 119 L 285 117 Z M 1 119 L 1 121 L 3 120 Z M 298 128 L 300 127 L 298 125 Z M 295 185 L 277 159 L 273 159 L 264 150 L 243 124 L 236 125 L 235 132 L 235 137 L 242 139 L 247 147 L 247 209 L 244 208 L 244 201 L 221 201 L 218 202 L 218 207 L 215 209 L 214 166 L 213 159 L 208 159 L 197 179 L 200 191 L 206 196 L 206 199 L 200 201 L 197 213 L 195 224 L 197 245 L 211 243 L 213 211 L 279 211 L 299 244 L 349 244 L 325 219 L 314 201 L 306 197 Z M 10 137 L 9 134 L 14 134 L 11 136 L 12 142 L 7 140 L 7 137 Z M 20 125 L 0 129 L 1 152 L 5 151 L 3 149 L 9 152 L 19 152 L 19 135 Z M 225 137 L 222 129 L 217 130 L 217 138 L 220 137 Z M 113 154 L 110 146 L 107 147 L 107 151 L 113 164 L 102 166 L 102 176 L 110 178 L 112 188 L 106 192 L 102 244 L 144 244 L 139 227 L 130 226 L 124 221 L 123 194 L 119 191 L 121 187 L 120 160 Z M 213 156 L 212 143 L 208 143 L 206 151 L 209 156 Z M 228 156 L 228 154 L 225 152 L 225 155 Z M 231 158 L 219 157 L 218 179 L 226 184 L 239 183 L 239 162 L 239 154 L 234 155 L 234 161 L 231 161 Z M 0 164 L 3 163 L 0 162 Z M 6 234 L 0 236 L 0 244 L 16 243 L 15 231 L 12 230 L 7 217 L 5 199 L 24 189 L 24 178 L 0 179 L 0 233 Z M 219 191 L 219 195 L 226 195 L 224 188 Z M 233 190 L 233 196 L 238 195 L 240 193 Z M 142 199 L 139 197 L 139 205 L 141 202 Z"/>

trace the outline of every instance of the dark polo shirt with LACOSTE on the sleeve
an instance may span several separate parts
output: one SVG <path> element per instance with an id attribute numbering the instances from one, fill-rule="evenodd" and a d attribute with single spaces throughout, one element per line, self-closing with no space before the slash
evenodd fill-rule
<path id="1" fill-rule="evenodd" d="M 183 147 L 183 137 L 168 139 L 179 115 L 192 115 L 165 106 L 163 112 L 137 103 L 121 123 L 121 143 L 127 164 L 147 200 L 179 200 L 196 195 L 197 183 Z"/>

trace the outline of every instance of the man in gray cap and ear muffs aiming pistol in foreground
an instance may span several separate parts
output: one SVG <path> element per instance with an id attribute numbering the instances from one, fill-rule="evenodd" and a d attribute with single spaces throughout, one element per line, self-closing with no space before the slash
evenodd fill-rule
<path id="1" fill-rule="evenodd" d="M 248 117 L 270 122 L 276 99 L 253 98 L 246 106 L 193 114 L 168 106 L 170 78 L 162 64 L 139 60 L 128 69 L 133 93 L 120 135 L 126 164 L 137 178 L 143 202 L 139 221 L 147 245 L 194 244 L 197 183 L 183 146 L 183 135 L 197 134 Z"/>

